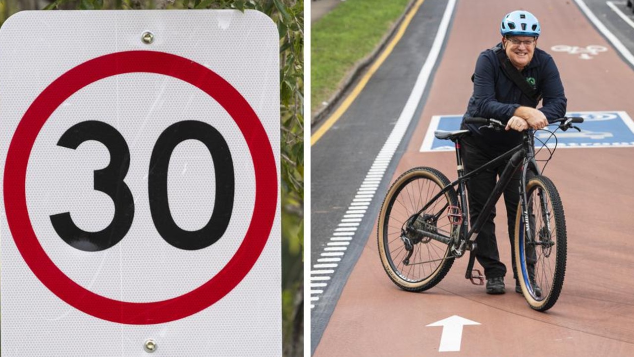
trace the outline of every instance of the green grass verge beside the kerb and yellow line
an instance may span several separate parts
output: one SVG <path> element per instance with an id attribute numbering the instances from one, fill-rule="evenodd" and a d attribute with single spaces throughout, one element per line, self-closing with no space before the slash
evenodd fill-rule
<path id="1" fill-rule="evenodd" d="M 311 112 L 378 45 L 410 0 L 346 0 L 312 25 Z"/>

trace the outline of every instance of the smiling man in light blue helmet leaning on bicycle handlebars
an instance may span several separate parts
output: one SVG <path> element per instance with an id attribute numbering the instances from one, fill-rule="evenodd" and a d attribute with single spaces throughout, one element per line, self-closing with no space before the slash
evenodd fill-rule
<path id="1" fill-rule="evenodd" d="M 472 77 L 474 91 L 465 118 L 493 118 L 506 124 L 506 130 L 496 131 L 463 123 L 472 135 L 462 139 L 465 170 L 469 172 L 520 144 L 522 131 L 537 130 L 548 125 L 548 120 L 566 114 L 566 96 L 557 65 L 545 51 L 537 48 L 540 24 L 528 11 L 508 13 L 500 25 L 501 43 L 480 53 Z M 542 107 L 536 109 L 538 103 Z M 469 180 L 469 211 L 475 222 L 493 192 L 496 180 L 506 163 L 480 173 Z M 508 236 L 514 253 L 513 234 L 519 202 L 519 179 L 516 172 L 504 191 L 507 208 Z M 506 266 L 500 261 L 495 236 L 495 208 L 477 236 L 475 258 L 484 267 L 486 292 L 505 292 Z M 517 269 L 512 259 L 515 291 L 521 292 Z"/>

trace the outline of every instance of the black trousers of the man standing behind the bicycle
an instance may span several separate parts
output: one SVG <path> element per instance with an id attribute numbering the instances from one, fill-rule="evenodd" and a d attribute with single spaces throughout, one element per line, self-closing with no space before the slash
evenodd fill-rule
<path id="1" fill-rule="evenodd" d="M 465 172 L 470 172 L 480 166 L 495 159 L 508 149 L 495 149 L 488 145 L 482 138 L 476 134 L 465 137 L 461 140 L 461 150 L 463 157 L 463 166 Z M 518 143 L 519 144 L 519 143 Z M 469 192 L 469 218 L 473 223 L 482 212 L 484 204 L 493 192 L 493 188 L 504 171 L 508 161 L 502 162 L 495 167 L 484 170 L 484 172 L 476 175 L 467 182 L 467 190 Z M 515 216 L 517 213 L 517 203 L 519 203 L 519 180 L 521 177 L 520 170 L 517 170 L 512 179 L 504 190 L 504 203 L 507 207 L 507 225 L 508 239 L 511 245 L 511 262 L 513 269 L 513 278 L 517 279 L 517 268 L 515 267 L 514 257 L 514 236 L 515 236 Z M 497 239 L 495 236 L 495 206 L 489 218 L 484 222 L 480 233 L 475 239 L 477 248 L 475 249 L 475 259 L 484 268 L 484 275 L 487 279 L 503 277 L 507 273 L 507 267 L 500 261 L 500 253 L 498 252 Z"/>

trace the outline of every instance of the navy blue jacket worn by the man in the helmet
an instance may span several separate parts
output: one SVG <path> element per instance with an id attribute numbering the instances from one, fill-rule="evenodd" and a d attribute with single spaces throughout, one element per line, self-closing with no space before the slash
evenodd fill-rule
<path id="1" fill-rule="evenodd" d="M 501 43 L 497 44 L 497 47 L 501 46 Z M 542 96 L 543 106 L 539 110 L 544 113 L 546 119 L 562 118 L 566 114 L 567 100 L 553 58 L 545 51 L 535 48 L 531 63 L 524 67 L 521 73 L 527 79 L 534 79 L 534 85 Z M 535 108 L 537 103 L 524 95 L 502 71 L 500 60 L 493 50 L 480 53 L 475 63 L 474 91 L 469 99 L 465 117 L 493 118 L 506 124 L 515 109 L 520 106 Z M 475 135 L 481 135 L 486 142 L 500 149 L 517 145 L 522 138 L 522 134 L 515 130 L 478 130 L 476 125 L 463 127 L 473 131 Z"/>

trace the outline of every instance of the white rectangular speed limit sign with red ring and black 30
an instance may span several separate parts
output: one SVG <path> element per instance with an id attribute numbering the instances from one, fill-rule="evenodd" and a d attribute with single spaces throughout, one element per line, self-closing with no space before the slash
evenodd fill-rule
<path id="1" fill-rule="evenodd" d="M 3 25 L 3 356 L 281 355 L 278 38 L 257 11 Z"/>

